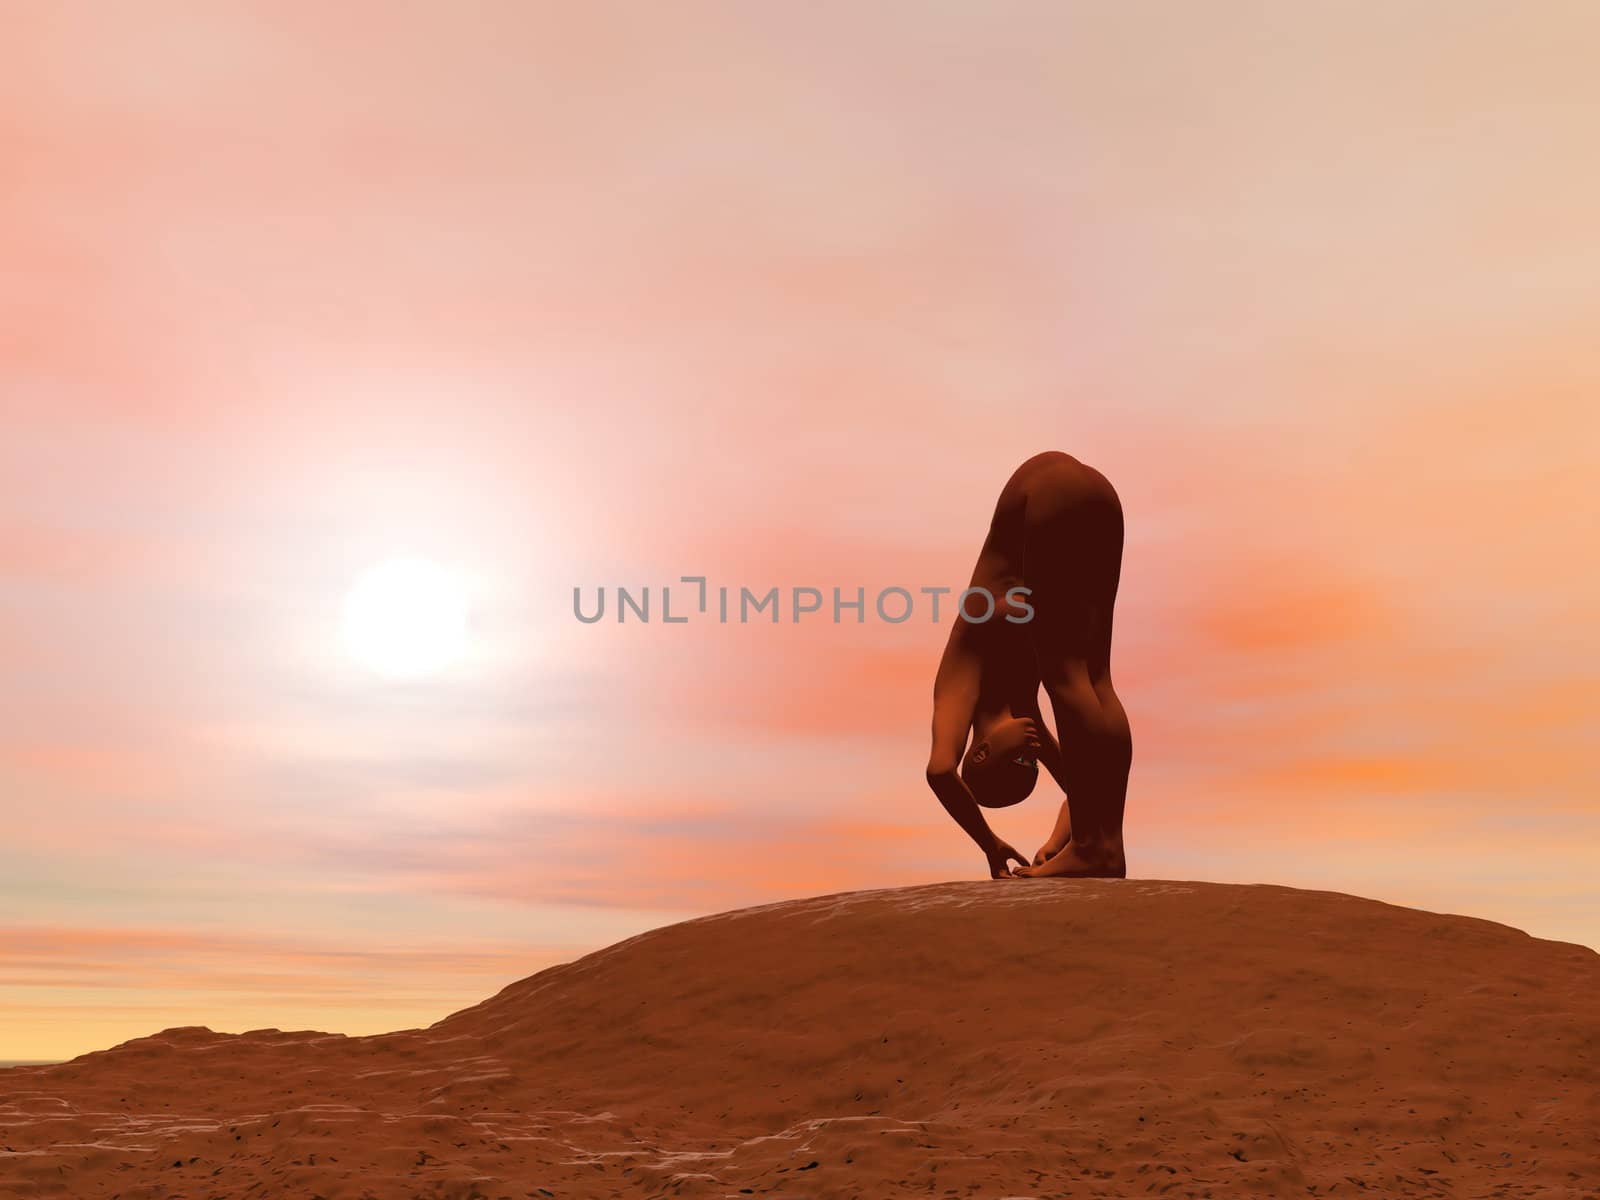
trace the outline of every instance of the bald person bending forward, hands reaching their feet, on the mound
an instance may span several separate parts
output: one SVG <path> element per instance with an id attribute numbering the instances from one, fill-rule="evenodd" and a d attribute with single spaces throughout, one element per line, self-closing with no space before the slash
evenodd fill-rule
<path id="1" fill-rule="evenodd" d="M 973 598 L 971 619 L 952 622 L 933 685 L 926 771 L 939 803 L 982 850 L 990 878 L 1126 875 L 1133 739 L 1110 682 L 1122 541 L 1115 490 L 1070 454 L 1035 454 L 1000 491 L 970 584 L 995 597 L 995 613 L 978 621 L 984 605 Z M 1040 715 L 1040 685 L 1056 736 Z M 1032 862 L 981 811 L 1027 795 L 1029 758 L 1066 795 Z"/>

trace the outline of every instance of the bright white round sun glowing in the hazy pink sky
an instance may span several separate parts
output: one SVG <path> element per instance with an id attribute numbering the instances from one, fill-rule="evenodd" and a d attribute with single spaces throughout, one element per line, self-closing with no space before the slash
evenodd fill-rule
<path id="1" fill-rule="evenodd" d="M 344 645 L 381 675 L 418 678 L 440 670 L 467 645 L 462 581 L 427 558 L 373 566 L 344 598 Z"/>

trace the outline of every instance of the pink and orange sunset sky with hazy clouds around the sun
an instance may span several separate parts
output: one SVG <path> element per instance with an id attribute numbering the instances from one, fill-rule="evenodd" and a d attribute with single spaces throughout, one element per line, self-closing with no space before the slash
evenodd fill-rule
<path id="1" fill-rule="evenodd" d="M 1600 946 L 1600 8 L 0 27 L 0 1059 L 984 877 L 947 619 L 571 594 L 958 587 L 1048 448 L 1126 514 L 1130 874 Z M 395 557 L 421 678 L 341 642 Z"/>

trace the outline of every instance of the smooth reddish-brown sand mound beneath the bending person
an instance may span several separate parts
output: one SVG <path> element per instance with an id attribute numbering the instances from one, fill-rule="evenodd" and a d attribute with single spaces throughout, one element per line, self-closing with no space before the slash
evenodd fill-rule
<path id="1" fill-rule="evenodd" d="M 1600 1197 L 1600 957 L 1334 893 L 938 883 L 422 1030 L 0 1070 L 0 1197 Z"/>

